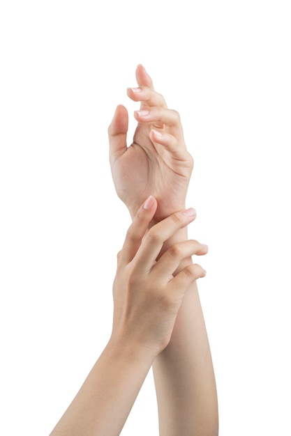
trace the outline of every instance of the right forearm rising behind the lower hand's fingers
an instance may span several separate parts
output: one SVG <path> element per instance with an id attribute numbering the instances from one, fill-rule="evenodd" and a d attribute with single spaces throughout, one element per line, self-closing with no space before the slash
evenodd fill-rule
<path id="1" fill-rule="evenodd" d="M 170 343 L 153 369 L 160 435 L 217 435 L 216 382 L 196 282 L 186 291 Z"/>

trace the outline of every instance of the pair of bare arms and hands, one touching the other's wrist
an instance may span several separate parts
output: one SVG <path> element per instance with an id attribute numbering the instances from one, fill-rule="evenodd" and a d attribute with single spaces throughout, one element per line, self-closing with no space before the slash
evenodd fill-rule
<path id="1" fill-rule="evenodd" d="M 117 107 L 109 127 L 112 177 L 133 217 L 118 255 L 112 334 L 51 436 L 119 435 L 151 366 L 160 435 L 218 435 L 215 377 L 196 286 L 205 271 L 192 261 L 207 246 L 188 240 L 186 230 L 195 219 L 195 210 L 184 206 L 193 159 L 177 112 L 167 109 L 142 65 L 137 83 L 140 91 L 130 88 L 128 95 L 149 114 L 135 113 L 133 144 L 126 146 L 124 107 Z"/>

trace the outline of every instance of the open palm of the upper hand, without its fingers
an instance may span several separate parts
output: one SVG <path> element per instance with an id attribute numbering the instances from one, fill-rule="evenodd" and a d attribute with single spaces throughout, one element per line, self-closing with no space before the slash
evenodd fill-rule
<path id="1" fill-rule="evenodd" d="M 138 125 L 133 143 L 112 162 L 112 177 L 119 198 L 131 215 L 153 195 L 158 200 L 155 220 L 184 208 L 192 160 L 174 159 L 170 153 L 149 139 L 148 125 Z"/>

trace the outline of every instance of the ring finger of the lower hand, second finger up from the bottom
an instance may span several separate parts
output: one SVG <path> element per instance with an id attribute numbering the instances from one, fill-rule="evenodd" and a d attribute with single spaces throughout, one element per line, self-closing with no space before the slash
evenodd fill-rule
<path id="1" fill-rule="evenodd" d="M 172 245 L 153 268 L 153 272 L 160 277 L 172 278 L 181 261 L 191 256 L 202 256 L 207 254 L 208 247 L 195 240 L 188 240 Z"/>

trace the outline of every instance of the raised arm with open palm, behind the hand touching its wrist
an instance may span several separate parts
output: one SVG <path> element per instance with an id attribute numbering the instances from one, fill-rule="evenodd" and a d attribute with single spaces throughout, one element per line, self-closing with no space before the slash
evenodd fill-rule
<path id="1" fill-rule="evenodd" d="M 117 108 L 109 128 L 110 163 L 117 194 L 131 216 L 137 198 L 143 198 L 149 187 L 164 200 L 159 202 L 156 222 L 184 207 L 193 159 L 186 150 L 179 114 L 167 109 L 141 65 L 136 76 L 139 88 L 128 88 L 128 96 L 140 101 L 140 109 L 149 114 L 135 112 L 139 123 L 133 144 L 127 148 L 128 115 L 124 107 Z M 126 171 L 127 167 L 136 170 Z M 186 238 L 186 230 L 181 230 L 163 249 Z M 183 267 L 181 263 L 179 268 Z M 170 343 L 154 361 L 154 379 L 161 436 L 217 435 L 216 383 L 196 283 L 186 292 Z"/>

